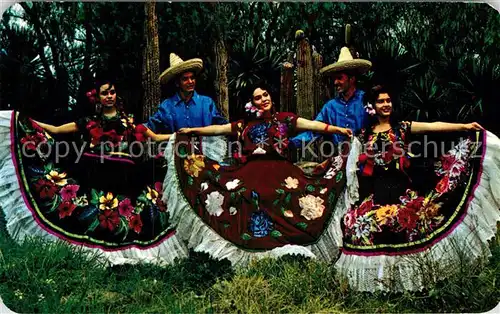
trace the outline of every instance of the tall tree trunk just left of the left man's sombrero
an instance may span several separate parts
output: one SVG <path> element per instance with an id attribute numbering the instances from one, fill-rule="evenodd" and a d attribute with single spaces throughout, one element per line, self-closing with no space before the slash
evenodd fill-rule
<path id="1" fill-rule="evenodd" d="M 156 3 L 144 4 L 144 50 L 142 64 L 143 111 L 142 120 L 146 121 L 160 103 L 160 48 L 158 41 L 158 19 Z"/>

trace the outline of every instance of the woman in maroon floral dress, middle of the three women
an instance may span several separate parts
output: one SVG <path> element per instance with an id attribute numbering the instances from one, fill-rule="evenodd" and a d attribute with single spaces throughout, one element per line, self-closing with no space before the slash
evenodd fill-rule
<path id="1" fill-rule="evenodd" d="M 351 130 L 274 112 L 267 87 L 250 91 L 248 118 L 179 131 L 167 149 L 164 200 L 178 234 L 198 251 L 245 264 L 257 256 L 332 254 L 334 239 L 317 249 L 344 186 L 344 159 L 320 164 L 311 176 L 287 160 L 288 138 L 312 130 L 351 136 Z M 230 165 L 192 153 L 187 135 L 233 135 Z M 172 143 L 172 141 L 171 141 Z M 311 246 L 311 247 L 307 247 Z M 319 245 L 320 246 L 320 245 Z M 336 257 L 336 253 L 333 256 Z"/>

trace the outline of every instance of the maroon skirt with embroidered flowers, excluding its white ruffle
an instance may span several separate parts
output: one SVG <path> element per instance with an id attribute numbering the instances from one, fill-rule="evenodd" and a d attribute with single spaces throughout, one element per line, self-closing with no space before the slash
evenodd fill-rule
<path id="1" fill-rule="evenodd" d="M 310 245 L 329 225 L 345 185 L 342 157 L 307 176 L 277 155 L 252 155 L 244 163 L 221 166 L 183 142 L 188 141 L 178 135 L 175 180 L 182 197 L 190 211 L 238 248 Z"/>

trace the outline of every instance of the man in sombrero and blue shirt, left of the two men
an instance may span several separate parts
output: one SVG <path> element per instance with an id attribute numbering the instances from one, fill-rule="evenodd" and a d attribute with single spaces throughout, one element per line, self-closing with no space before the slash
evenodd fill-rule
<path id="1" fill-rule="evenodd" d="M 203 61 L 195 58 L 183 61 L 170 54 L 170 67 L 160 75 L 162 84 L 175 80 L 177 93 L 165 99 L 158 111 L 145 126 L 155 133 L 174 133 L 181 128 L 203 127 L 227 123 L 208 96 L 195 91 L 196 75 L 203 68 Z"/>

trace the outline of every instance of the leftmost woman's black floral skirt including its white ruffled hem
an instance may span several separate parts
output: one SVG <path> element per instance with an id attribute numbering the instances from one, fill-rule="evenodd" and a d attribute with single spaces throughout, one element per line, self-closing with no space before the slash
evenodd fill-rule
<path id="1" fill-rule="evenodd" d="M 2 117 L 2 121 L 7 121 L 5 112 Z M 57 154 L 59 143 L 38 125 L 15 113 L 9 118 L 10 128 L 4 125 L 1 129 L 4 135 L 5 130 L 10 130 L 10 147 L 1 148 L 0 171 L 9 176 L 3 178 L 2 188 L 3 192 L 10 189 L 20 197 L 3 195 L 0 206 L 14 237 L 48 233 L 104 251 L 147 251 L 175 234 L 161 201 L 164 159 L 142 162 L 120 156 L 101 159 L 89 154 L 80 160 L 76 160 L 76 154 L 63 158 Z M 10 164 L 15 168 L 11 174 Z M 7 185 L 7 181 L 11 184 Z M 184 251 L 179 243 L 174 246 L 175 250 Z M 134 254 L 137 260 L 144 257 L 142 253 Z M 166 258 L 172 259 L 173 256 Z"/>

